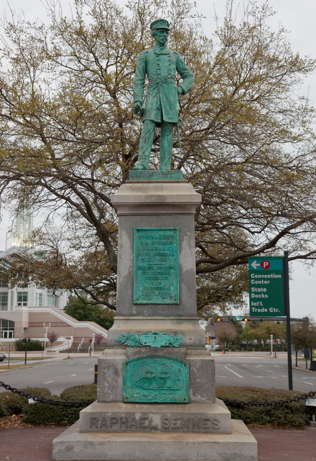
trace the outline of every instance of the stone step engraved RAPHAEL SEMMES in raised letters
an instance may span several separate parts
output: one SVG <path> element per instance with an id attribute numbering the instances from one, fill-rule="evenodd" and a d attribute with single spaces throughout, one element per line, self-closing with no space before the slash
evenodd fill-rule
<path id="1" fill-rule="evenodd" d="M 100 403 L 80 412 L 80 432 L 230 434 L 225 403 Z"/>

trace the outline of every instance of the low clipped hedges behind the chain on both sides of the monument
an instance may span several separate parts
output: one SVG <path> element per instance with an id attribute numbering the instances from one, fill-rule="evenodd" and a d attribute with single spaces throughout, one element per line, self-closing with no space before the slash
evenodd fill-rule
<path id="1" fill-rule="evenodd" d="M 60 396 L 51 396 L 45 388 L 27 388 L 31 395 L 51 397 L 54 400 L 88 401 L 96 399 L 96 384 L 85 384 L 65 389 Z M 216 397 L 248 402 L 285 400 L 301 392 L 284 389 L 261 389 L 242 386 L 216 386 Z M 305 401 L 275 407 L 233 407 L 227 405 L 232 418 L 243 420 L 248 426 L 289 427 L 302 429 L 310 420 L 310 410 Z M 25 397 L 4 392 L 0 394 L 0 416 L 23 414 L 23 421 L 40 426 L 68 426 L 79 419 L 83 407 L 61 407 L 48 403 L 28 404 Z"/>

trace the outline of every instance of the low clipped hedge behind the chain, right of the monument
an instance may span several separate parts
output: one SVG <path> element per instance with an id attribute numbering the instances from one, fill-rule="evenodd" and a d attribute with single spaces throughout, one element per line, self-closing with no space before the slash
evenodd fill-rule
<path id="1" fill-rule="evenodd" d="M 247 402 L 262 402 L 284 400 L 301 395 L 301 392 L 284 389 L 261 389 L 241 386 L 216 386 L 216 397 L 245 400 Z M 227 405 L 232 418 L 243 420 L 248 426 L 292 427 L 303 429 L 309 421 L 309 412 L 305 402 L 292 402 L 275 407 L 233 407 Z"/>

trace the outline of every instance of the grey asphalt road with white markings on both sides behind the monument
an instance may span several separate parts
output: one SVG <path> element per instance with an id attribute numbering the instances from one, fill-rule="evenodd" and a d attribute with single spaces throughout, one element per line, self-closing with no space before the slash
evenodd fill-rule
<path id="1" fill-rule="evenodd" d="M 0 372 L 0 381 L 18 388 L 47 387 L 58 395 L 67 387 L 93 383 L 96 363 L 97 357 L 50 359 L 32 368 Z M 288 389 L 286 358 L 223 355 L 215 358 L 215 373 L 216 385 Z M 316 390 L 316 373 L 293 370 L 293 389 Z M 0 387 L 0 392 L 4 390 Z"/>

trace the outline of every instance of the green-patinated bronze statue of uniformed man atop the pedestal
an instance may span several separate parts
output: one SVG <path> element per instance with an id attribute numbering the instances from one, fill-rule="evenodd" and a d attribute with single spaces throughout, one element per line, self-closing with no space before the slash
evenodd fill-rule
<path id="1" fill-rule="evenodd" d="M 167 47 L 168 21 L 157 19 L 150 24 L 150 30 L 155 44 L 150 50 L 140 53 L 134 77 L 133 112 L 142 113 L 143 118 L 138 162 L 134 170 L 148 170 L 155 127 L 160 124 L 159 169 L 166 171 L 170 170 L 171 165 L 173 127 L 179 121 L 178 95 L 185 95 L 191 89 L 194 77 L 179 53 Z M 176 72 L 183 79 L 179 86 L 175 84 Z M 149 85 L 142 107 L 146 75 Z"/>

